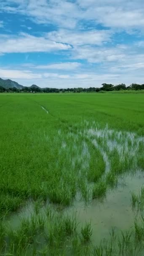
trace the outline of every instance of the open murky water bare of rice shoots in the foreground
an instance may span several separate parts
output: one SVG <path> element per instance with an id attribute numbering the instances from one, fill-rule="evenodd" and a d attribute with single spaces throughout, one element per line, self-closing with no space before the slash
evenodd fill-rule
<path id="1" fill-rule="evenodd" d="M 79 231 L 85 221 L 91 221 L 92 240 L 94 244 L 98 244 L 101 239 L 109 237 L 112 227 L 115 227 L 115 232 L 118 234 L 121 230 L 126 231 L 133 227 L 136 212 L 132 211 L 131 192 L 138 193 L 143 184 L 144 173 L 139 172 L 135 176 L 125 176 L 119 180 L 117 189 L 109 189 L 103 202 L 92 200 L 85 205 L 84 202 L 75 200 L 71 207 L 64 209 L 64 214 L 70 216 L 76 214 Z M 59 209 L 56 206 L 51 206 L 54 209 Z M 30 217 L 34 212 L 33 203 L 28 202 L 21 211 L 8 217 L 10 226 L 14 229 L 19 227 L 20 219 Z M 41 208 L 40 213 L 45 214 L 45 206 Z"/>

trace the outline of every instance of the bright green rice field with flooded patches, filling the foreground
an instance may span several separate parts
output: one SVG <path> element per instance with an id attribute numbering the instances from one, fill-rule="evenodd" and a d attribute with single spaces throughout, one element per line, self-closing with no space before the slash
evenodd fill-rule
<path id="1" fill-rule="evenodd" d="M 0 256 L 144 255 L 144 93 L 0 94 Z"/>

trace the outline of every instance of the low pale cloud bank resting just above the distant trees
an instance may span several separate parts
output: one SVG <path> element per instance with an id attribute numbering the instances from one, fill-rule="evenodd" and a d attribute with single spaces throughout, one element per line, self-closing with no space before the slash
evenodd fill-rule
<path id="1" fill-rule="evenodd" d="M 85 87 L 88 88 L 90 86 L 94 87 L 101 87 L 102 83 L 112 83 L 112 84 L 119 84 L 119 83 L 126 83 L 127 85 L 130 85 L 131 83 L 144 83 L 143 82 L 143 76 L 135 77 L 135 74 L 132 75 L 121 75 L 119 73 L 117 74 L 77 74 L 71 75 L 69 77 L 62 76 L 61 77 L 58 74 L 53 75 L 47 75 L 46 77 L 42 77 L 40 79 L 34 78 L 34 79 L 17 79 L 18 83 L 21 83 L 22 85 L 31 85 L 31 84 L 37 84 L 39 86 L 43 87 L 54 87 L 54 88 L 72 88 L 72 87 Z"/>

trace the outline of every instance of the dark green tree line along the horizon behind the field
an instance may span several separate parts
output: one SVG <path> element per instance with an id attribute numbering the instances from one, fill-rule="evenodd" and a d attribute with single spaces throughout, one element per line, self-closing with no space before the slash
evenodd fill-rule
<path id="1" fill-rule="evenodd" d="M 103 83 L 102 87 L 89 87 L 89 88 L 63 88 L 63 89 L 58 89 L 58 88 L 38 88 L 38 87 L 23 87 L 21 89 L 17 89 L 16 87 L 13 88 L 4 88 L 3 86 L 0 86 L 0 93 L 3 92 L 27 92 L 27 93 L 37 93 L 37 92 L 42 92 L 42 93 L 64 93 L 64 92 L 74 92 L 74 93 L 81 93 L 81 92 L 101 92 L 101 91 L 124 91 L 124 90 L 144 90 L 144 84 L 139 85 L 136 83 L 132 83 L 129 86 L 126 86 L 124 83 L 121 83 L 119 85 L 112 85 L 112 84 L 107 84 Z"/>

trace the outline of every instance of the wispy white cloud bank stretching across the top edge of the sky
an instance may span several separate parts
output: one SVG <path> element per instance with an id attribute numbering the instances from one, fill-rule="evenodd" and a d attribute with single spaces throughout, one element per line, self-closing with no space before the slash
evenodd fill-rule
<path id="1" fill-rule="evenodd" d="M 15 3 L 14 7 L 11 3 Z M 143 29 L 143 0 L 2 0 L 0 10 L 24 14 L 36 23 L 76 28 L 79 22 L 94 21 L 107 27 Z"/>

